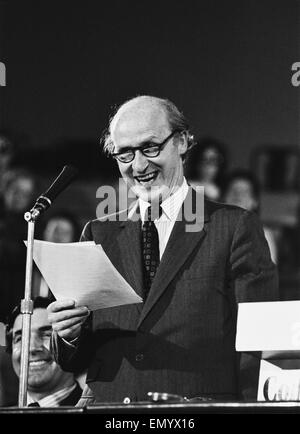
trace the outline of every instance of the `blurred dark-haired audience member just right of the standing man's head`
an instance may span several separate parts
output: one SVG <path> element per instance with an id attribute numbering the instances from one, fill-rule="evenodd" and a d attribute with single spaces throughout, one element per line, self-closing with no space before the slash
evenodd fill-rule
<path id="1" fill-rule="evenodd" d="M 208 199 L 219 200 L 226 170 L 225 146 L 213 138 L 198 141 L 189 151 L 186 177 L 191 185 L 204 186 Z"/>

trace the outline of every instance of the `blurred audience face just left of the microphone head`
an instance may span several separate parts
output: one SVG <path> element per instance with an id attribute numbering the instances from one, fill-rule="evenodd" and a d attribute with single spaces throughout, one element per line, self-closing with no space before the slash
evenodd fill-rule
<path id="1" fill-rule="evenodd" d="M 13 212 L 27 211 L 32 206 L 34 191 L 35 183 L 33 179 L 19 176 L 12 180 L 4 192 L 6 208 Z"/>

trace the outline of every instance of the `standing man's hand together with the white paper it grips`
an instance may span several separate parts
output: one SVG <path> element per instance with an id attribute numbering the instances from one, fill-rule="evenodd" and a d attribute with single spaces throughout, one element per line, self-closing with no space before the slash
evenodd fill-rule
<path id="1" fill-rule="evenodd" d="M 94 242 L 35 240 L 33 259 L 57 300 L 48 307 L 49 321 L 67 341 L 79 336 L 91 310 L 142 302 Z"/>

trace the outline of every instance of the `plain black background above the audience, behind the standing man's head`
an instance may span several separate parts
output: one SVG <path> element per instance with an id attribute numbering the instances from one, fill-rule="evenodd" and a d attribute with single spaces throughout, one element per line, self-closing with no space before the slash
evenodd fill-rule
<path id="1" fill-rule="evenodd" d="M 297 0 L 26 0 L 0 15 L 0 128 L 42 171 L 69 160 L 108 176 L 99 137 L 137 94 L 173 100 L 196 137 L 227 144 L 231 167 L 263 144 L 298 145 Z"/>

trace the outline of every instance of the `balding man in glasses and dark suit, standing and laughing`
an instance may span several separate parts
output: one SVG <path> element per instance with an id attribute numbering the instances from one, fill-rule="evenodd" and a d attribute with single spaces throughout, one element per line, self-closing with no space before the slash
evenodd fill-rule
<path id="1" fill-rule="evenodd" d="M 134 98 L 110 123 L 104 148 L 138 200 L 89 222 L 82 241 L 101 244 L 144 302 L 96 311 L 88 322 L 73 300 L 49 306 L 58 363 L 88 368 L 85 403 L 148 392 L 255 398 L 258 361 L 235 351 L 237 305 L 276 300 L 275 267 L 254 214 L 203 206 L 187 185 L 189 145 L 187 122 L 167 100 Z"/>

